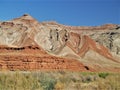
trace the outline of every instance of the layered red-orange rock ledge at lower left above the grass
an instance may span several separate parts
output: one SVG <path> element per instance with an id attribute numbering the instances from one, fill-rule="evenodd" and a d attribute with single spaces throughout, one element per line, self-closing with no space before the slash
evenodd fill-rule
<path id="1" fill-rule="evenodd" d="M 0 52 L 0 70 L 95 71 L 77 60 L 51 56 L 38 46 L 1 46 Z"/>

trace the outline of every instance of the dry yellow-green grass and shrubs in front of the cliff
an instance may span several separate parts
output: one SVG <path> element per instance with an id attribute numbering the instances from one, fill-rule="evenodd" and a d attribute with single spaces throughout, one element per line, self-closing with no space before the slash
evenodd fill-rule
<path id="1" fill-rule="evenodd" d="M 0 72 L 0 90 L 120 90 L 120 73 Z"/>

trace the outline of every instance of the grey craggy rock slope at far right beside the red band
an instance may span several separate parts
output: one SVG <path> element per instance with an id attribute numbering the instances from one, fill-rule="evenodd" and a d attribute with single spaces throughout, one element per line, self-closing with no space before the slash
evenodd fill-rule
<path id="1" fill-rule="evenodd" d="M 120 55 L 120 30 L 112 30 L 90 36 L 99 44 L 107 47 L 111 52 Z"/>

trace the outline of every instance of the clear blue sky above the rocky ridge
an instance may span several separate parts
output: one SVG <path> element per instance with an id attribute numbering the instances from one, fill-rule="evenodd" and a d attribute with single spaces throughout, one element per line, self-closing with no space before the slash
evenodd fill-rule
<path id="1" fill-rule="evenodd" d="M 39 22 L 74 26 L 120 24 L 119 0 L 0 0 L 0 21 L 30 14 Z"/>

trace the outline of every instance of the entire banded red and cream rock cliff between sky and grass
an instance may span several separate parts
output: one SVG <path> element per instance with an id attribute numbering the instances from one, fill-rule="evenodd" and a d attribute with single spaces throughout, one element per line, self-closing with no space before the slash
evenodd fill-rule
<path id="1" fill-rule="evenodd" d="M 0 22 L 0 68 L 120 71 L 120 27 L 66 26 L 25 14 Z"/>

